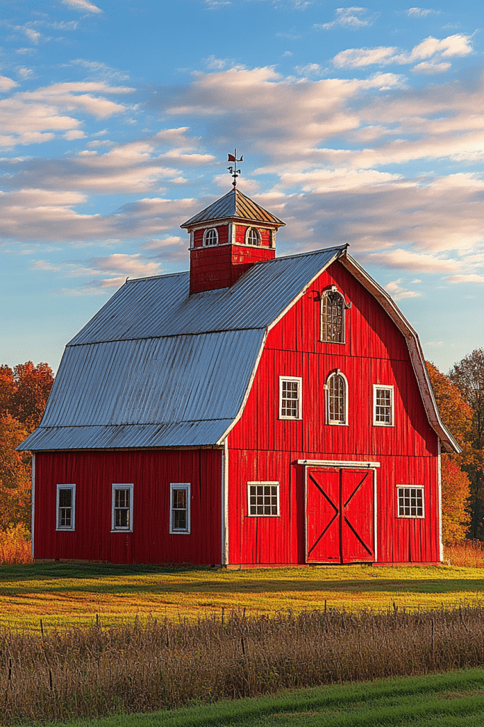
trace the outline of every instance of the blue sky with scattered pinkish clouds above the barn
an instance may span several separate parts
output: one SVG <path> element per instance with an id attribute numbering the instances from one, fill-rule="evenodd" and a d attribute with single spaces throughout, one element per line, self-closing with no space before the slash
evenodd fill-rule
<path id="1" fill-rule="evenodd" d="M 279 254 L 350 244 L 447 371 L 484 345 L 478 0 L 0 6 L 1 361 L 47 361 L 239 188 Z"/>

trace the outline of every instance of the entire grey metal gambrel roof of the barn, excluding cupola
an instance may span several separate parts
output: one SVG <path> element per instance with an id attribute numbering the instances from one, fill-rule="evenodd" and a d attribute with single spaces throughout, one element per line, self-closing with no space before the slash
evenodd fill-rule
<path id="1" fill-rule="evenodd" d="M 346 246 L 253 265 L 229 288 L 189 295 L 189 273 L 127 281 L 65 349 L 44 417 L 21 449 L 221 446 L 239 419 L 268 329 L 335 260 L 406 337 L 430 425 L 440 421 L 417 334 Z"/>

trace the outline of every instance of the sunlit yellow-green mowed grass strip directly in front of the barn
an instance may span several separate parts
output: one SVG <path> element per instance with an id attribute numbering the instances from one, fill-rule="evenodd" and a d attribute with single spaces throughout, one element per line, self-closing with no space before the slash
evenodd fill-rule
<path id="1" fill-rule="evenodd" d="M 223 571 L 160 566 L 42 563 L 0 568 L 0 627 L 120 624 L 148 614 L 194 619 L 246 609 L 451 608 L 483 598 L 480 569 L 332 566 Z"/>

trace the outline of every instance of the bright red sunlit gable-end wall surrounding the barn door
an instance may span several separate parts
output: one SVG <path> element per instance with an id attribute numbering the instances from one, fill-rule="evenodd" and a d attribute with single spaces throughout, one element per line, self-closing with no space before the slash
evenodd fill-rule
<path id="1" fill-rule="evenodd" d="M 336 284 L 353 303 L 346 343 L 320 337 L 320 295 Z M 348 379 L 348 426 L 325 423 L 327 376 Z M 303 379 L 303 419 L 279 419 L 279 376 Z M 395 426 L 374 427 L 373 384 L 394 385 Z M 298 459 L 377 461 L 377 560 L 440 560 L 438 438 L 406 342 L 377 301 L 333 263 L 269 332 L 247 406 L 229 434 L 230 563 L 305 562 L 304 467 Z M 247 482 L 279 481 L 280 517 L 247 516 Z M 425 518 L 397 517 L 397 485 L 425 486 Z"/>

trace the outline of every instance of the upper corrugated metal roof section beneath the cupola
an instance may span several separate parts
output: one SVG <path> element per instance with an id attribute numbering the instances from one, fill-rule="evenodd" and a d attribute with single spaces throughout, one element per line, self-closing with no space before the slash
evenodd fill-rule
<path id="1" fill-rule="evenodd" d="M 128 281 L 70 345 L 266 328 L 343 247 L 276 257 L 230 288 L 189 295 L 189 273 Z"/>

